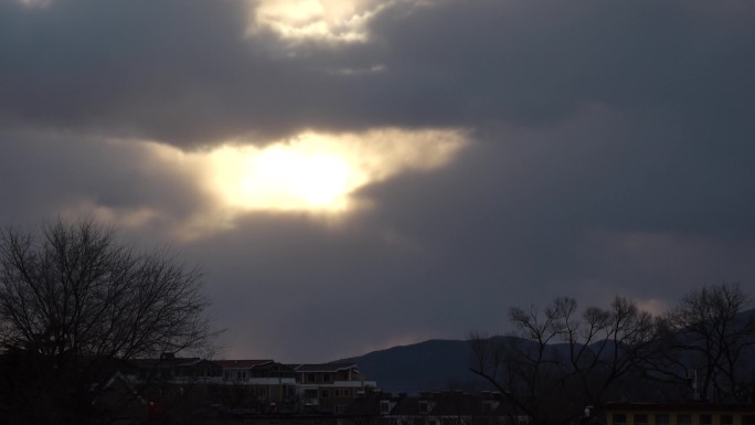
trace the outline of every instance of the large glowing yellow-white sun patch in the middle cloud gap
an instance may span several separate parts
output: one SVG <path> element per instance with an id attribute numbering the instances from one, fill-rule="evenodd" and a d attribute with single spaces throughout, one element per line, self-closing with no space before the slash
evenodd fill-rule
<path id="1" fill-rule="evenodd" d="M 442 167 L 466 140 L 466 134 L 456 129 L 390 128 L 337 135 L 309 131 L 263 147 L 236 139 L 194 152 L 159 144 L 148 147 L 164 167 L 192 176 L 205 193 L 208 204 L 198 206 L 187 226 L 202 233 L 233 226 L 236 217 L 254 212 L 331 217 L 355 212 L 366 206 L 354 196 L 360 188 L 397 173 Z"/>

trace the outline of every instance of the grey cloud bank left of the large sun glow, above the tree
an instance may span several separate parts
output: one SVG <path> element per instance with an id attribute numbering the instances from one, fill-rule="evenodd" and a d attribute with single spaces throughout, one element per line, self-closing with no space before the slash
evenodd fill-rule
<path id="1" fill-rule="evenodd" d="M 170 222 L 206 202 L 191 179 L 138 146 L 59 132 L 0 130 L 0 179 L 6 223 L 39 224 L 75 205 L 153 209 Z"/>

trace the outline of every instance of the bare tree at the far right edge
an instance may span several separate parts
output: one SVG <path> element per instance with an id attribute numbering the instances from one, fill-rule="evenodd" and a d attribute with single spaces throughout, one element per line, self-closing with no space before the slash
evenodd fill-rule
<path id="1" fill-rule="evenodd" d="M 705 286 L 666 315 L 695 396 L 715 402 L 755 399 L 755 312 L 740 285 Z"/>

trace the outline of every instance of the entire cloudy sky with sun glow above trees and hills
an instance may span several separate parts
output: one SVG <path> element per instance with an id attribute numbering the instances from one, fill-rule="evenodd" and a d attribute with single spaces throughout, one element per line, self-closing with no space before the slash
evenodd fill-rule
<path id="1" fill-rule="evenodd" d="M 749 0 L 0 0 L 0 224 L 204 273 L 219 358 L 755 294 Z"/>

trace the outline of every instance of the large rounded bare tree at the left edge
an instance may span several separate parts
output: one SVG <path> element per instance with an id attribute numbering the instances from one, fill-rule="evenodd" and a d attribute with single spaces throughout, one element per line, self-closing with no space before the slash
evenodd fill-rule
<path id="1" fill-rule="evenodd" d="M 26 368 L 4 386 L 19 405 L 4 408 L 38 415 L 26 423 L 94 421 L 116 362 L 209 343 L 208 305 L 196 269 L 92 221 L 0 231 L 0 337 Z"/>

